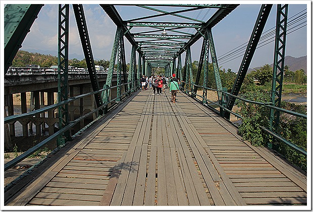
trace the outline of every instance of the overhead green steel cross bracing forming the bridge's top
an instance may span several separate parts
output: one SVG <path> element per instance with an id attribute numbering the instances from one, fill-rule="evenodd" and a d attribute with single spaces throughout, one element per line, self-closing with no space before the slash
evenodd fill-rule
<path id="1" fill-rule="evenodd" d="M 201 38 L 207 28 L 214 27 L 239 5 L 100 6 L 117 26 L 123 28 L 125 37 L 135 46 L 142 63 L 146 63 L 150 68 L 154 66 L 166 68 L 172 64 L 171 72 L 174 72 L 176 59 L 181 57 L 188 46 Z M 123 11 L 130 11 L 125 8 L 138 12 L 124 14 Z M 152 61 L 158 61 L 159 65 L 152 64 Z M 161 61 L 167 62 L 160 63 Z"/>

